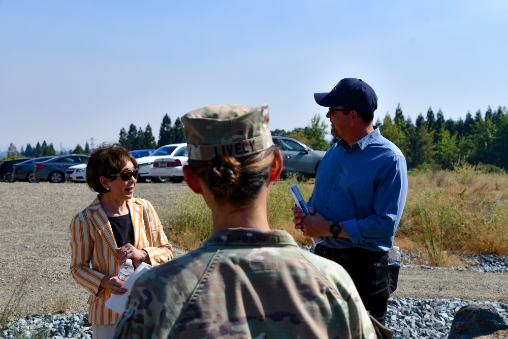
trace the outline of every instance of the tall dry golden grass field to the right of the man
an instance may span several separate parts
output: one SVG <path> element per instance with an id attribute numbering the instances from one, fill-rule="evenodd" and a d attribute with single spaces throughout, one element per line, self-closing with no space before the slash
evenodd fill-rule
<path id="1" fill-rule="evenodd" d="M 443 251 L 508 255 L 507 196 L 506 174 L 482 173 L 467 164 L 455 171 L 410 175 L 396 242 L 403 238 L 424 245 L 422 215 L 427 212 L 430 236 Z"/>

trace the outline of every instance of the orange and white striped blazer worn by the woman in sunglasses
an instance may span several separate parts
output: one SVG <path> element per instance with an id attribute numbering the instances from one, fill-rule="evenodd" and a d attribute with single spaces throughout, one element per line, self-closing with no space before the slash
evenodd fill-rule
<path id="1" fill-rule="evenodd" d="M 173 258 L 173 248 L 164 233 L 161 221 L 148 200 L 132 198 L 127 201 L 134 229 L 133 244 L 148 252 L 152 266 Z M 106 212 L 97 197 L 76 214 L 71 230 L 71 275 L 90 291 L 88 320 L 92 324 L 114 324 L 120 317 L 105 306 L 111 293 L 102 288 L 105 275 L 116 275 L 122 264 L 116 255 L 115 237 Z M 141 262 L 133 260 L 134 266 Z"/>

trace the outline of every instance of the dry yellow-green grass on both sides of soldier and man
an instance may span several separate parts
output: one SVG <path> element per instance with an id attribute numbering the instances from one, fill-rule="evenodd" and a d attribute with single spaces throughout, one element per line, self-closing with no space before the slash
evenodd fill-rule
<path id="1" fill-rule="evenodd" d="M 297 242 L 308 244 L 310 239 L 294 229 L 292 183 L 298 184 L 305 200 L 309 198 L 313 182 L 290 177 L 272 183 L 268 221 L 272 228 L 288 231 Z M 437 257 L 434 264 L 444 266 L 460 266 L 460 255 L 466 252 L 508 255 L 507 198 L 505 173 L 483 173 L 468 164 L 454 171 L 411 172 L 395 245 L 427 253 L 422 263 Z M 171 225 L 165 229 L 168 236 L 180 248 L 199 247 L 212 229 L 203 198 L 187 190 L 168 205 L 161 217 L 163 225 Z M 426 214 L 428 219 L 422 218 Z"/>

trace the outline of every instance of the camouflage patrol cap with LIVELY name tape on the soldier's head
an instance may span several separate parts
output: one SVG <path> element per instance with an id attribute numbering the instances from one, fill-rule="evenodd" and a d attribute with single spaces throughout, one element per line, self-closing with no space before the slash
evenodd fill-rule
<path id="1" fill-rule="evenodd" d="M 191 160 L 245 157 L 273 145 L 267 104 L 213 105 L 189 112 L 181 120 Z"/>

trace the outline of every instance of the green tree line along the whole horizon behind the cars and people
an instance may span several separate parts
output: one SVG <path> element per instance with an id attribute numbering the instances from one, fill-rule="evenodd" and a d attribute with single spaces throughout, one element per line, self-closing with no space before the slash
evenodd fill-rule
<path id="1" fill-rule="evenodd" d="M 395 143 L 404 153 L 408 169 L 453 169 L 460 162 L 482 164 L 484 169 L 497 171 L 508 169 L 508 110 L 498 107 L 492 110 L 490 106 L 485 114 L 478 110 L 474 116 L 467 112 L 465 119 L 444 119 L 439 109 L 434 114 L 429 107 L 424 116 L 420 113 L 413 123 L 410 117 L 405 118 L 400 104 L 397 105 L 392 119 L 386 114 L 383 120 L 377 119 L 376 124 L 381 134 Z M 289 136 L 300 140 L 312 149 L 327 150 L 338 140 L 334 137 L 327 141 L 330 130 L 328 119 L 315 114 L 310 124 L 292 131 L 273 130 L 272 135 Z M 155 142 L 150 124 L 143 130 L 131 124 L 129 131 L 120 130 L 118 142 L 128 150 L 154 149 L 166 144 L 185 142 L 183 124 L 176 118 L 174 124 L 168 114 L 165 114 L 159 129 L 159 138 Z M 88 154 L 88 142 L 83 149 L 79 144 L 72 153 Z M 8 157 L 42 157 L 56 155 L 53 144 L 39 142 L 35 147 L 26 145 L 18 152 L 11 144 Z"/>

